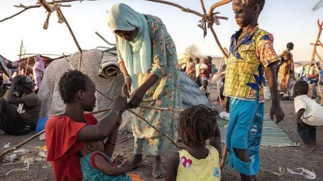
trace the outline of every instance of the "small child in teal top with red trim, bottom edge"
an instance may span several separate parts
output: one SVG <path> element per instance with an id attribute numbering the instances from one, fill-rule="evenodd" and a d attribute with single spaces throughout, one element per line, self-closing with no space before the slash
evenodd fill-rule
<path id="1" fill-rule="evenodd" d="M 139 175 L 126 174 L 131 170 L 131 165 L 128 162 L 120 167 L 113 166 L 110 160 L 112 155 L 104 153 L 102 141 L 85 143 L 79 153 L 84 181 L 143 181 Z"/>

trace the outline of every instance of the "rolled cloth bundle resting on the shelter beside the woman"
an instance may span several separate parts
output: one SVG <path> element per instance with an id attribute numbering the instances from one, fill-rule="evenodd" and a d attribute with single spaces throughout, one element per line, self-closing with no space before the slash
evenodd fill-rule
<path id="1" fill-rule="evenodd" d="M 104 79 L 116 79 L 120 74 L 121 71 L 117 63 L 117 56 L 113 53 L 104 53 L 98 76 Z"/>

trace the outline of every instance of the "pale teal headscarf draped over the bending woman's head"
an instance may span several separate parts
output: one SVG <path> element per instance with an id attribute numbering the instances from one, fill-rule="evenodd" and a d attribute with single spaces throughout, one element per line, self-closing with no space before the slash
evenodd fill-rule
<path id="1" fill-rule="evenodd" d="M 137 88 L 138 81 L 135 75 L 145 74 L 151 69 L 151 43 L 146 18 L 123 3 L 113 5 L 108 13 L 107 23 L 112 31 L 138 29 L 138 33 L 132 41 L 117 36 L 119 42 L 117 48 L 133 84 L 135 84 L 133 86 Z"/>

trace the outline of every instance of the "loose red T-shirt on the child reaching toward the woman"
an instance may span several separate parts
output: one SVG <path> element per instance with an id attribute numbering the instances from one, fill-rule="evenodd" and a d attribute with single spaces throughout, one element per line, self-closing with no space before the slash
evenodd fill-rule
<path id="1" fill-rule="evenodd" d="M 78 142 L 77 133 L 85 125 L 96 125 L 91 114 L 83 114 L 86 123 L 74 122 L 68 116 L 52 116 L 45 126 L 47 161 L 51 161 L 55 180 L 82 180 L 78 151 L 84 142 Z"/>

